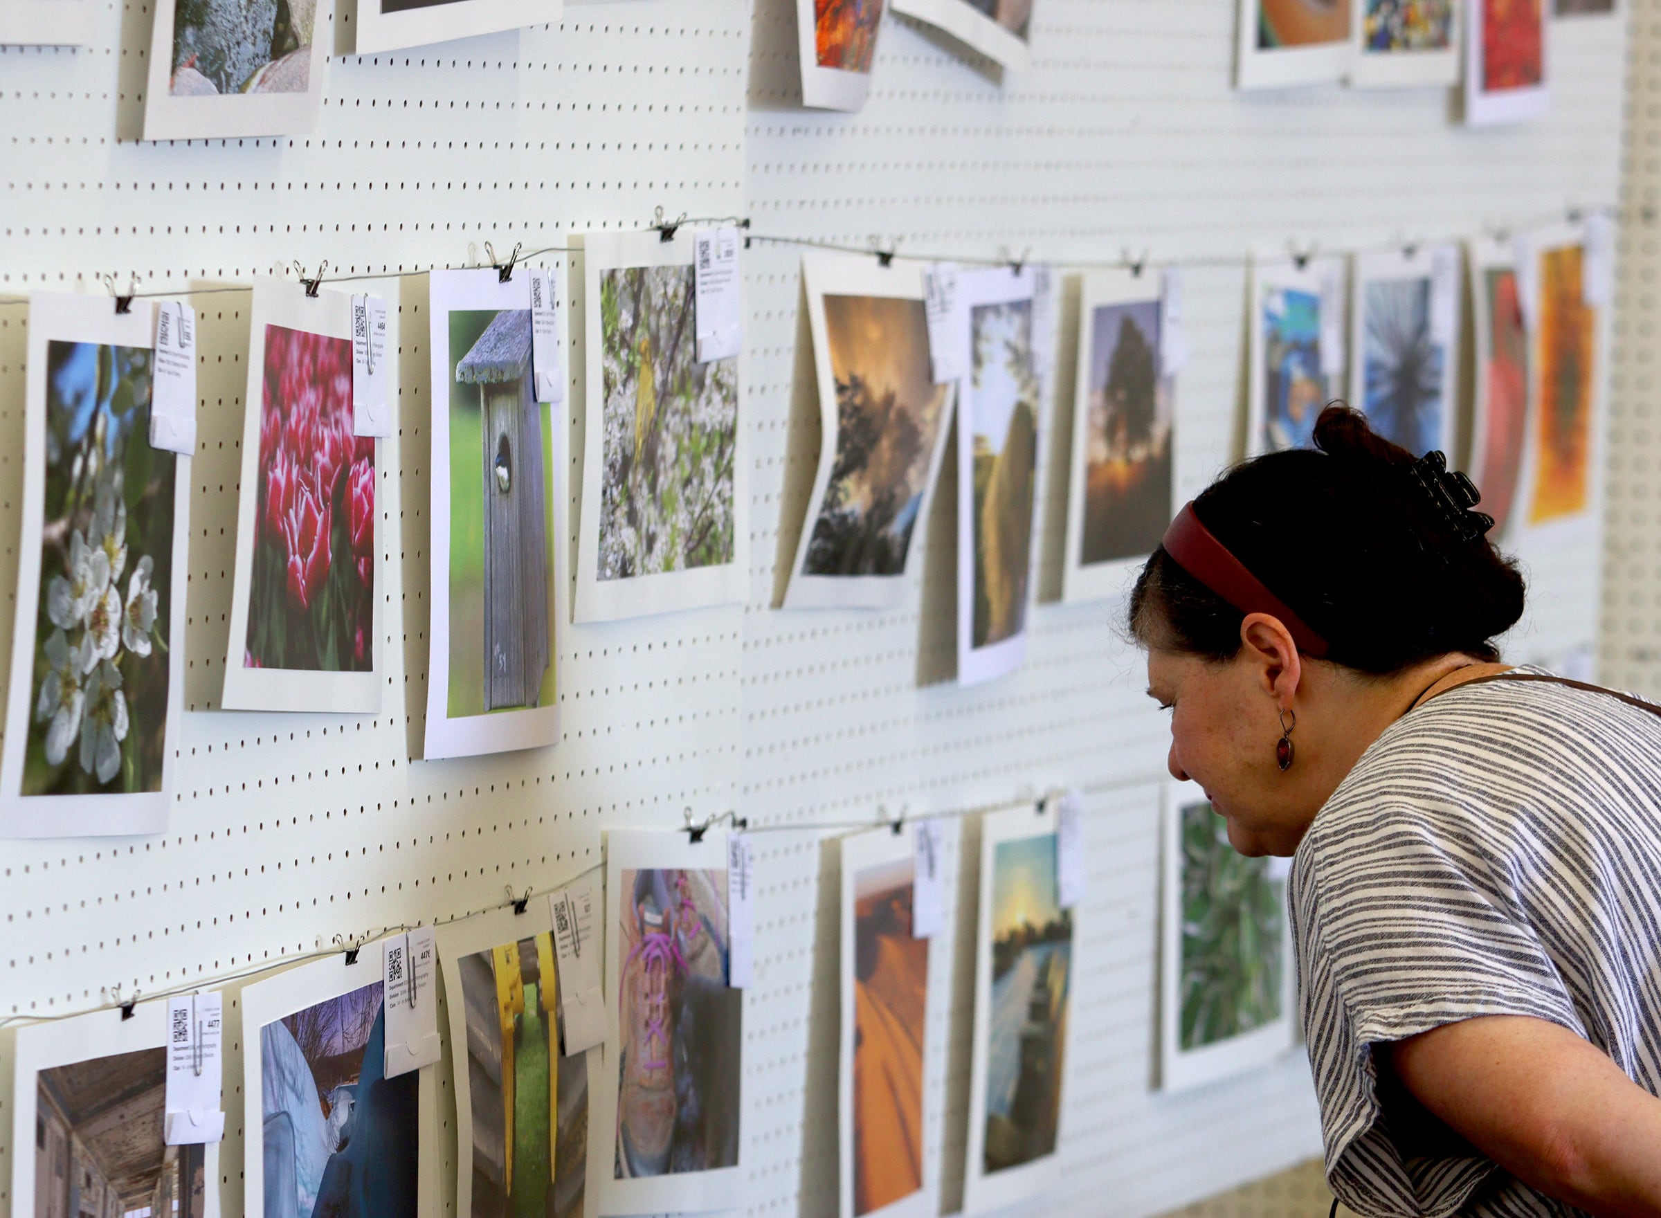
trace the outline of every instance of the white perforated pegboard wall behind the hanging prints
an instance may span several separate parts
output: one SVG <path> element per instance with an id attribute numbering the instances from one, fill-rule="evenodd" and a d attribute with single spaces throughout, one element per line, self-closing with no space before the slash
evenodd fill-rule
<path id="1" fill-rule="evenodd" d="M 1658 0 L 1626 3 L 1654 20 Z M 571 7 L 561 23 L 518 33 L 331 58 L 311 138 L 176 145 L 133 140 L 145 5 L 110 3 L 85 50 L 0 48 L 0 296 L 106 273 L 136 273 L 145 287 L 234 286 L 294 259 L 380 273 L 370 289 L 399 302 L 400 410 L 379 464 L 382 713 L 219 711 L 249 296 L 196 297 L 201 434 L 171 824 L 149 839 L 0 842 L 0 1015 L 80 1010 L 116 982 L 154 992 L 277 965 L 336 934 L 493 906 L 507 884 L 543 886 L 598 862 L 603 829 L 671 828 L 686 806 L 787 828 L 1075 784 L 1090 791 L 1091 889 L 1065 1183 L 1045 1208 L 1149 1215 L 1317 1153 L 1301 1058 L 1179 1098 L 1148 1092 L 1153 784 L 1166 729 L 1115 607 L 1041 605 L 1018 675 L 919 688 L 924 623 L 950 611 L 947 462 L 927 560 L 899 610 L 771 608 L 776 567 L 789 562 L 777 522 L 802 507 L 784 500 L 786 474 L 809 469 L 817 445 L 789 246 L 756 243 L 746 264 L 749 603 L 566 628 L 558 746 L 407 761 L 425 705 L 430 442 L 427 287 L 397 273 L 465 264 L 485 239 L 505 253 L 638 228 L 658 206 L 747 214 L 756 233 L 854 244 L 880 234 L 900 238 L 902 253 L 1030 251 L 1063 264 L 1126 251 L 1156 263 L 1232 258 L 1289 239 L 1339 251 L 1543 221 L 1616 199 L 1624 28 L 1626 13 L 1558 23 L 1550 115 L 1487 131 L 1453 125 L 1438 90 L 1232 93 L 1232 0 L 1041 0 L 1033 68 L 1002 85 L 988 63 L 885 18 L 860 115 L 797 106 L 791 0 Z M 1188 273 L 1184 495 L 1239 444 L 1244 294 L 1241 266 Z M 1063 329 L 1070 321 L 1063 312 Z M 12 630 L 25 327 L 22 307 L 0 304 L 0 640 Z M 1070 366 L 1063 339 L 1068 392 Z M 1066 455 L 1048 444 L 1055 420 L 1046 412 L 1040 482 L 1051 572 Z M 1596 550 L 1525 558 L 1535 603 L 1512 653 L 1590 645 Z M 757 841 L 744 1067 L 752 1215 L 835 1210 L 835 884 L 822 836 L 802 828 Z M 950 939 L 942 947 L 953 950 Z M 962 1158 L 968 994 L 962 975 L 942 982 L 930 1010 L 930 1176 L 945 1206 L 957 1190 L 943 1180 Z M 448 1062 L 439 1077 L 448 1213 Z M 233 1052 L 228 1215 L 243 1208 L 239 1082 Z M 10 1103 L 0 1052 L 0 1130 Z M 0 1135 L 0 1191 L 8 1150 Z"/>

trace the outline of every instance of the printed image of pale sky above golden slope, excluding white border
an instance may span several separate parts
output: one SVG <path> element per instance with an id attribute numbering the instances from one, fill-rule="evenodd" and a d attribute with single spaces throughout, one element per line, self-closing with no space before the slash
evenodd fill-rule
<path id="1" fill-rule="evenodd" d="M 1038 372 L 1031 301 L 970 311 L 970 387 L 962 427 L 973 444 L 975 603 L 970 645 L 1002 643 L 1026 621 Z"/>

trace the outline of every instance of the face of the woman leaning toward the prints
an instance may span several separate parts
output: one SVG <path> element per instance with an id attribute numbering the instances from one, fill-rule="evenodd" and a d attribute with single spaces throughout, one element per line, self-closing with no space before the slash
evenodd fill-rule
<path id="1" fill-rule="evenodd" d="M 1173 778 L 1198 783 L 1227 821 L 1241 854 L 1291 856 L 1320 803 L 1309 804 L 1296 764 L 1282 771 L 1279 703 L 1246 650 L 1214 663 L 1148 650 L 1148 695 L 1171 715 Z M 1294 744 L 1297 733 L 1292 733 Z"/>

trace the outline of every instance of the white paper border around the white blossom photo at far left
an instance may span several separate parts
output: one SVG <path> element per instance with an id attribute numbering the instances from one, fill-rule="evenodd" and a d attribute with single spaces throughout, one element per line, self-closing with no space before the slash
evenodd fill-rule
<path id="1" fill-rule="evenodd" d="M 173 467 L 173 582 L 168 588 L 168 711 L 161 748 L 161 789 L 131 794 L 23 794 L 23 749 L 35 691 L 35 616 L 40 610 L 40 537 L 47 495 L 47 346 L 156 346 L 156 306 L 140 302 L 118 314 L 108 297 L 35 292 L 28 297 L 27 412 L 23 417 L 23 523 L 17 547 L 17 616 L 12 635 L 12 685 L 0 753 L 0 837 L 90 837 L 163 832 L 178 773 L 179 708 L 184 703 L 184 588 L 189 578 L 191 464 Z M 133 437 L 148 444 L 143 429 Z"/>

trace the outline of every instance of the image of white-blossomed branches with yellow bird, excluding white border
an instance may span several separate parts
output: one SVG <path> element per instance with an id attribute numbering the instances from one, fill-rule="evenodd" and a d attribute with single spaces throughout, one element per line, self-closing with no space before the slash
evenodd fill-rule
<path id="1" fill-rule="evenodd" d="M 737 359 L 698 362 L 691 266 L 600 276 L 601 580 L 733 562 Z"/>

